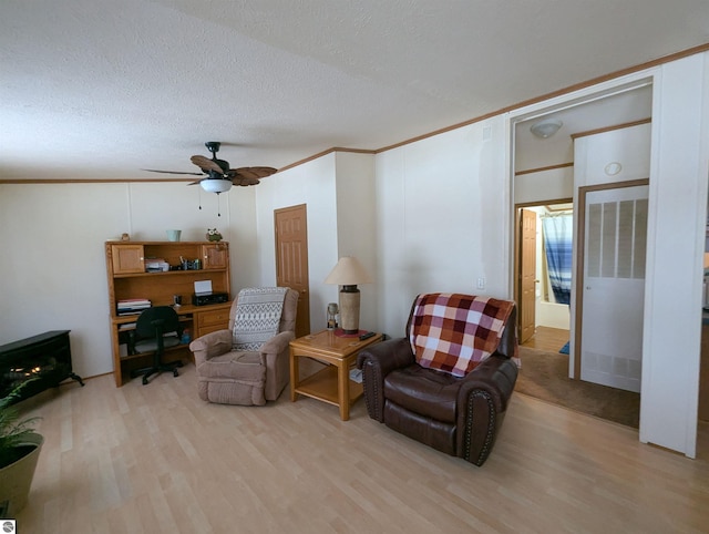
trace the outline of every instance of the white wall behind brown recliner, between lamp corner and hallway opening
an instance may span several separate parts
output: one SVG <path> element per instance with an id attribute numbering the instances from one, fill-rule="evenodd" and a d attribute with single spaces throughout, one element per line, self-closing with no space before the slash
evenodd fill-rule
<path id="1" fill-rule="evenodd" d="M 499 116 L 377 156 L 377 287 L 388 335 L 403 336 L 420 292 L 511 296 L 505 140 Z"/>

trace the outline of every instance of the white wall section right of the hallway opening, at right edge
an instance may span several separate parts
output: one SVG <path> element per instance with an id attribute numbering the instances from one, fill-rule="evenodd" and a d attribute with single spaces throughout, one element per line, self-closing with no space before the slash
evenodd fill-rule
<path id="1" fill-rule="evenodd" d="M 655 79 L 640 440 L 696 454 L 709 53 Z"/>

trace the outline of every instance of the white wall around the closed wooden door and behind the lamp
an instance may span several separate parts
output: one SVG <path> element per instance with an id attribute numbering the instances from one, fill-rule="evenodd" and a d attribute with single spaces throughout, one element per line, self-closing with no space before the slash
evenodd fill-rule
<path id="1" fill-rule="evenodd" d="M 306 204 L 310 326 L 325 328 L 328 302 L 338 286 L 323 283 L 341 256 L 357 257 L 376 278 L 374 156 L 330 153 L 261 182 L 257 191 L 257 242 L 260 284 L 276 281 L 274 210 Z M 360 286 L 360 328 L 377 330 L 374 285 Z"/>

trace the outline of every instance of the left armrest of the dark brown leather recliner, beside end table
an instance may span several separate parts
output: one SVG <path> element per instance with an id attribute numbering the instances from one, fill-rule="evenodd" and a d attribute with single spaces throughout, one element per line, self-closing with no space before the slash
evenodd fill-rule
<path id="1" fill-rule="evenodd" d="M 362 370 L 364 402 L 371 419 L 384 422 L 384 379 L 394 369 L 415 361 L 407 338 L 390 339 L 367 347 L 357 356 L 357 368 Z"/>

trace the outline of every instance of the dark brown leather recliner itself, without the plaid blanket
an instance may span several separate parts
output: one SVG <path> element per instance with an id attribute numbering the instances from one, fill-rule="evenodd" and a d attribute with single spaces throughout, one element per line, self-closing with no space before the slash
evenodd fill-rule
<path id="1" fill-rule="evenodd" d="M 417 363 L 410 333 L 368 347 L 357 358 L 369 417 L 411 439 L 475 465 L 495 443 L 517 379 L 516 310 L 496 350 L 462 378 Z"/>

